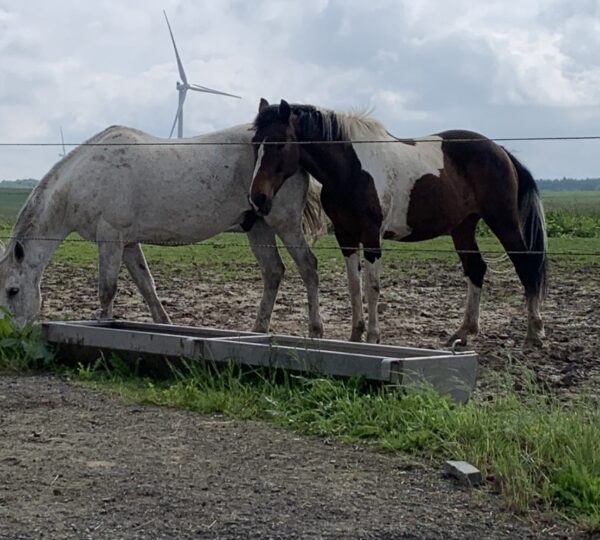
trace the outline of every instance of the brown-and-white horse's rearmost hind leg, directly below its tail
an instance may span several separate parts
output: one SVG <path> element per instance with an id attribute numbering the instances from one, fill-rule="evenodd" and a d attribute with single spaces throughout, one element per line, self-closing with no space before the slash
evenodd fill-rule
<path id="1" fill-rule="evenodd" d="M 527 253 L 527 245 L 523 240 L 517 218 L 504 221 L 499 216 L 484 216 L 492 232 L 498 237 L 502 247 L 508 253 L 517 275 L 525 288 L 527 304 L 527 335 L 525 345 L 540 347 L 545 336 L 544 323 L 541 316 L 542 291 L 536 282 L 538 258 Z"/>

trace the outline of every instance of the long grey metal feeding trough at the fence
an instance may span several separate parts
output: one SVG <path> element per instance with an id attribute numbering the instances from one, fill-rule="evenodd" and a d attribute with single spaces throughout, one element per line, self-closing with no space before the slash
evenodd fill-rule
<path id="1" fill-rule="evenodd" d="M 236 362 L 338 377 L 364 377 L 392 384 L 426 382 L 459 403 L 469 398 L 477 376 L 477 354 L 374 345 L 217 328 L 128 321 L 42 323 L 44 336 L 67 363 L 95 361 L 118 352 L 152 371 L 164 358 Z"/>

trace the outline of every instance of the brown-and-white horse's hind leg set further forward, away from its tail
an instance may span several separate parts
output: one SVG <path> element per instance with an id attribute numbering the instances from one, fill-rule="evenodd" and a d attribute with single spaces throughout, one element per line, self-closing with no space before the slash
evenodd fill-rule
<path id="1" fill-rule="evenodd" d="M 476 336 L 479 333 L 479 304 L 483 278 L 487 269 L 475 240 L 475 230 L 479 219 L 479 216 L 471 215 L 451 233 L 454 248 L 468 279 L 468 288 L 463 322 L 448 340 L 448 345 L 452 345 L 457 339 L 466 345 L 469 335 Z"/>

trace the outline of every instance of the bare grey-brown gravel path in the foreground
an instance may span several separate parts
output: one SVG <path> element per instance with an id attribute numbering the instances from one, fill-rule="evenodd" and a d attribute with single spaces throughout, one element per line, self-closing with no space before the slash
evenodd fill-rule
<path id="1" fill-rule="evenodd" d="M 439 468 L 0 376 L 0 539 L 566 538 Z"/>

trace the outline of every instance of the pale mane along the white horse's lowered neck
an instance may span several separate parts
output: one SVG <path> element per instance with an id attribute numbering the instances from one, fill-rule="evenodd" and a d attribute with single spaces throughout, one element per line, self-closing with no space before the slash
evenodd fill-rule
<path id="1" fill-rule="evenodd" d="M 13 227 L 13 237 L 26 238 L 29 235 L 29 233 L 35 230 L 35 226 L 40 217 L 40 204 L 44 200 L 44 194 L 59 179 L 59 173 L 62 167 L 64 167 L 65 164 L 73 161 L 73 159 L 77 157 L 83 151 L 84 148 L 86 148 L 86 145 L 99 142 L 108 132 L 114 130 L 115 127 L 117 126 L 110 126 L 105 130 L 101 131 L 100 133 L 93 135 L 87 141 L 74 148 L 71 152 L 69 152 L 62 159 L 58 160 L 52 166 L 52 168 L 40 180 L 39 184 L 35 188 L 33 188 L 29 197 L 27 197 L 23 208 L 21 208 L 21 211 L 17 216 L 15 226 Z"/>

